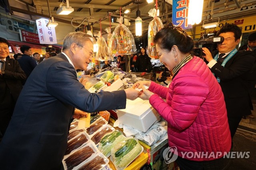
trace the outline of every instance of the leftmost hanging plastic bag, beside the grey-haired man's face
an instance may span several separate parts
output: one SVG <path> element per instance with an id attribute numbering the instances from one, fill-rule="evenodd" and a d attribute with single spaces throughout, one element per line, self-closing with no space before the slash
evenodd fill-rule
<path id="1" fill-rule="evenodd" d="M 98 45 L 98 51 L 96 52 L 95 59 L 98 61 L 111 60 L 110 56 L 108 55 L 108 45 L 106 43 L 105 38 L 102 37 L 100 31 L 98 32 L 98 34 L 96 36 L 98 37 L 97 42 L 96 42 L 96 44 Z"/>

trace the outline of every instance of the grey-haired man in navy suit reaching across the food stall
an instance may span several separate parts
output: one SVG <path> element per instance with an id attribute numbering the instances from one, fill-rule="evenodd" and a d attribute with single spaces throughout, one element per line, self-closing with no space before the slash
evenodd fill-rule
<path id="1" fill-rule="evenodd" d="M 74 108 L 88 113 L 124 109 L 126 99 L 134 100 L 141 94 L 132 88 L 90 93 L 79 83 L 76 69 L 86 70 L 94 42 L 83 32 L 69 33 L 63 52 L 32 71 L 0 143 L 2 169 L 60 169 Z"/>

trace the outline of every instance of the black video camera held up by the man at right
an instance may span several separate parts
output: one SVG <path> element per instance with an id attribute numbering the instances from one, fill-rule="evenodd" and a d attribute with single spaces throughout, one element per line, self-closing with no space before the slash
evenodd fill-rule
<path id="1" fill-rule="evenodd" d="M 204 34 L 198 42 L 196 43 L 196 47 L 192 50 L 193 55 L 196 55 L 198 57 L 202 58 L 202 55 L 205 55 L 202 51 L 202 47 L 206 47 L 210 50 L 212 53 L 212 56 L 217 49 L 217 44 L 222 43 L 224 41 L 224 37 L 222 36 L 216 36 L 216 33 L 214 34 Z"/>

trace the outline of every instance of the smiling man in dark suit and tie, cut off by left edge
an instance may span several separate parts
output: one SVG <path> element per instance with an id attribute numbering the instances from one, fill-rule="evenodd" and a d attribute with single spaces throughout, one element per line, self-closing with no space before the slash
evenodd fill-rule
<path id="1" fill-rule="evenodd" d="M 0 38 L 0 134 L 4 135 L 12 117 L 15 103 L 22 89 L 21 80 L 26 74 L 17 60 L 6 58 L 9 55 L 9 43 Z M 0 141 L 2 136 L 0 135 Z"/>

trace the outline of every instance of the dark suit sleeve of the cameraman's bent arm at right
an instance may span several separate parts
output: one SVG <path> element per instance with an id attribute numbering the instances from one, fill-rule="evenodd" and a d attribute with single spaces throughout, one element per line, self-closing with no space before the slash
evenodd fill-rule
<path id="1" fill-rule="evenodd" d="M 223 67 L 220 63 L 216 63 L 211 68 L 212 73 L 220 77 L 221 81 L 233 79 L 252 69 L 255 59 L 250 51 L 238 51 L 236 55 L 236 57 L 233 56 L 235 58 L 230 67 Z"/>

